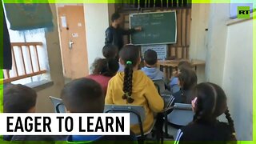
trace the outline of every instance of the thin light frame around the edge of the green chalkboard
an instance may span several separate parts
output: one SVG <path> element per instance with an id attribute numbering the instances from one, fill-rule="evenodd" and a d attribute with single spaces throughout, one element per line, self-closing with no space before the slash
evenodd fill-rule
<path id="1" fill-rule="evenodd" d="M 163 14 L 163 13 L 174 13 L 174 16 L 175 16 L 175 40 L 174 42 L 152 42 L 152 43 L 135 43 L 134 45 L 135 46 L 142 46 L 142 45 L 162 45 L 162 44 L 174 44 L 174 43 L 177 43 L 177 14 L 176 14 L 176 10 L 171 10 L 171 11 L 159 11 L 159 12 L 148 12 L 148 13 L 137 13 L 137 14 L 130 14 L 129 15 L 129 25 L 130 25 L 130 28 L 131 28 L 131 17 L 134 16 L 134 15 L 138 15 L 138 14 Z M 143 29 L 143 27 L 142 27 Z M 132 42 L 132 35 L 130 35 L 130 43 L 133 44 Z"/>

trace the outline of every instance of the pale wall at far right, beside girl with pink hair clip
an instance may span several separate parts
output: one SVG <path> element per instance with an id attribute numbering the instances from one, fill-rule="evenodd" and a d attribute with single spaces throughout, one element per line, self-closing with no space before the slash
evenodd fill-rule
<path id="1" fill-rule="evenodd" d="M 238 140 L 252 140 L 253 20 L 227 27 L 222 86 L 228 97 Z"/>

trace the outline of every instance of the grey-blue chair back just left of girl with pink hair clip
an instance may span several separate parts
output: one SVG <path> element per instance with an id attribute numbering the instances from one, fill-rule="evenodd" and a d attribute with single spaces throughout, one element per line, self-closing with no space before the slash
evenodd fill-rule
<path id="1" fill-rule="evenodd" d="M 181 128 L 193 121 L 194 112 L 191 104 L 175 103 L 174 106 L 165 110 L 165 135 L 167 138 L 174 138 L 168 134 L 168 123 L 174 128 Z"/>

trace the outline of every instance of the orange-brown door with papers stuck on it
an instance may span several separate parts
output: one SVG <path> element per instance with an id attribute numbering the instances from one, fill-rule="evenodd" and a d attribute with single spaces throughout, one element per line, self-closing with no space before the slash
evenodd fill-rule
<path id="1" fill-rule="evenodd" d="M 89 74 L 86 49 L 86 26 L 83 6 L 58 7 L 63 74 L 82 78 Z"/>

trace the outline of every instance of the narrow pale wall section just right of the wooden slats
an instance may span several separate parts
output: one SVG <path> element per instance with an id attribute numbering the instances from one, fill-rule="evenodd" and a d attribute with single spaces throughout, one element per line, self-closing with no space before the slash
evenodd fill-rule
<path id="1" fill-rule="evenodd" d="M 225 52 L 226 22 L 230 19 L 230 4 L 211 4 L 206 51 L 206 80 L 222 85 Z"/>

